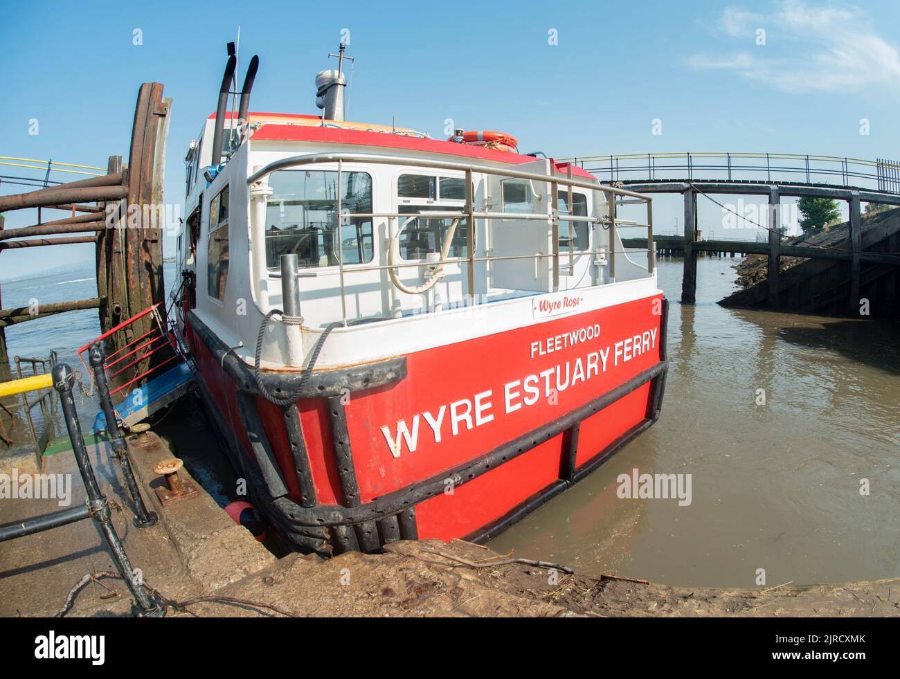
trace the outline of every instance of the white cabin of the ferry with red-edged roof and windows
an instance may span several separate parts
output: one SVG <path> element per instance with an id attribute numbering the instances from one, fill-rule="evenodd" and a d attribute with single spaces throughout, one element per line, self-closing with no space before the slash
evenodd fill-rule
<path id="1" fill-rule="evenodd" d="M 628 281 L 655 288 L 653 253 L 627 253 L 618 232 L 652 229 L 650 201 L 577 166 L 409 132 L 254 120 L 211 181 L 211 168 L 193 167 L 210 126 L 188 163 L 184 262 L 201 281 L 198 311 L 234 344 L 252 344 L 259 317 L 284 307 L 285 254 L 298 258 L 309 333 Z M 647 221 L 617 219 L 616 200 L 644 201 Z M 284 364 L 275 354 L 264 358 Z"/>

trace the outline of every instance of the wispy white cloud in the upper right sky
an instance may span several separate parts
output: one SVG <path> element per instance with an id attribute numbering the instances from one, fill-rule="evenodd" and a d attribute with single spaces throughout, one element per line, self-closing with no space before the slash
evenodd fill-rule
<path id="1" fill-rule="evenodd" d="M 766 31 L 764 46 L 751 41 L 758 29 Z M 687 59 L 689 67 L 730 70 L 792 93 L 900 85 L 900 53 L 855 6 L 811 7 L 783 0 L 770 13 L 727 7 L 718 30 L 741 40 L 742 49 L 694 54 Z"/>

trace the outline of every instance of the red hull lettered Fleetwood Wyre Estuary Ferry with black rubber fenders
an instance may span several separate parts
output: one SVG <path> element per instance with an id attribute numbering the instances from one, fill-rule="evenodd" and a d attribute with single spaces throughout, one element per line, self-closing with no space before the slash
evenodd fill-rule
<path id="1" fill-rule="evenodd" d="M 391 384 L 298 400 L 315 505 L 356 508 L 354 528 L 320 518 L 323 541 L 347 549 L 347 531 L 361 529 L 379 545 L 404 537 L 393 516 L 421 539 L 484 540 L 569 487 L 659 415 L 665 309 L 654 296 L 440 345 L 403 357 L 405 376 Z M 202 393 L 258 463 L 239 385 L 196 325 L 187 335 Z M 286 411 L 258 395 L 255 405 L 302 514 L 310 503 Z M 360 549 L 372 544 L 359 537 Z"/>

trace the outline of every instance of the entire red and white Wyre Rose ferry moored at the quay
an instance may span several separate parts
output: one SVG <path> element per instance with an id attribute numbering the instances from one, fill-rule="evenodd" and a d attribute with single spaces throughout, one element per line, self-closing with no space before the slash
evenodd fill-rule
<path id="1" fill-rule="evenodd" d="M 333 56 L 321 115 L 249 112 L 257 58 L 229 111 L 229 58 L 185 158 L 179 334 L 290 549 L 487 541 L 660 415 L 667 301 L 618 231 L 652 243 L 652 204 L 506 133 L 345 121 Z"/>

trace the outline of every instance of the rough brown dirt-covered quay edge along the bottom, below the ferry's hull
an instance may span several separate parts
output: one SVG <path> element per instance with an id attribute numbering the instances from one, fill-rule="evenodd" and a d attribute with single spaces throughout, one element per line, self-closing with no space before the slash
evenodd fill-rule
<path id="1" fill-rule="evenodd" d="M 900 578 L 760 590 L 684 588 L 523 564 L 491 566 L 503 558 L 464 541 L 396 542 L 384 554 L 331 559 L 292 554 L 211 592 L 218 600 L 168 616 L 900 616 Z M 104 584 L 119 590 L 121 599 L 109 605 L 85 592 L 70 614 L 125 614 L 124 587 Z M 161 592 L 167 596 L 165 588 Z"/>

